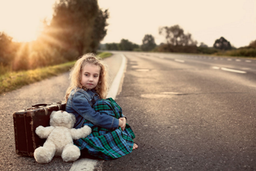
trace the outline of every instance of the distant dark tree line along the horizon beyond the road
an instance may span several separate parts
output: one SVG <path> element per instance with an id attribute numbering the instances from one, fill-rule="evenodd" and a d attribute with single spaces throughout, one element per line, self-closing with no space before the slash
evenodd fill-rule
<path id="1" fill-rule="evenodd" d="M 224 37 L 216 39 L 213 47 L 208 47 L 203 42 L 197 46 L 191 34 L 185 34 L 179 25 L 160 27 L 159 35 L 164 36 L 166 42 L 156 45 L 154 36 L 146 34 L 142 44 L 134 44 L 129 40 L 122 39 L 120 43 L 106 43 L 101 49 L 115 51 L 154 51 L 154 52 L 180 52 L 180 53 L 205 53 L 216 55 L 249 56 L 256 57 L 256 40 L 246 47 L 235 48 Z"/>

